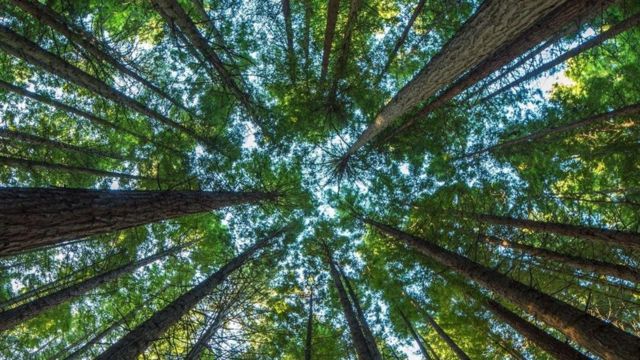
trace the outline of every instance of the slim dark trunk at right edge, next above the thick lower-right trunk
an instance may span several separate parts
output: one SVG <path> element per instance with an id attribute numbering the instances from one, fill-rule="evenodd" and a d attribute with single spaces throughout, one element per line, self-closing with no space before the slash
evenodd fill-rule
<path id="1" fill-rule="evenodd" d="M 563 265 L 568 265 L 576 269 L 580 269 L 584 272 L 593 272 L 600 275 L 613 276 L 619 279 L 628 280 L 640 284 L 640 272 L 629 266 L 611 264 L 600 260 L 585 259 L 579 256 L 562 254 L 552 250 L 541 249 L 526 244 L 519 244 L 513 241 L 500 239 L 495 236 L 482 235 L 482 238 L 488 243 L 499 245 L 505 248 L 516 249 L 532 256 L 541 257 L 546 260 L 556 261 Z"/>

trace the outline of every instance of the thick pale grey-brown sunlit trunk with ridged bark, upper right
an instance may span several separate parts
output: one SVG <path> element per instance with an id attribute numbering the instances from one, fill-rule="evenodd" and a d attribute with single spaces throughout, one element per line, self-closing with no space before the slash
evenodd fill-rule
<path id="1" fill-rule="evenodd" d="M 565 0 L 487 0 L 429 63 L 385 105 L 347 150 L 348 159 L 397 118 L 520 36 Z"/>

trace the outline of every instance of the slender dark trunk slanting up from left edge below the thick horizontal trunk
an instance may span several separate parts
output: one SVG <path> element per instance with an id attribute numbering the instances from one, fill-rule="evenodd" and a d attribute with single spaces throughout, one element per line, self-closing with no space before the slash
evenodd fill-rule
<path id="1" fill-rule="evenodd" d="M 138 261 L 133 261 L 128 264 L 119 266 L 113 270 L 106 271 L 102 274 L 83 280 L 77 284 L 73 284 L 51 294 L 47 294 L 43 297 L 34 299 L 13 309 L 3 311 L 0 313 L 0 331 L 11 329 L 19 323 L 32 319 L 42 312 L 53 308 L 54 306 L 65 303 L 73 298 L 82 296 L 102 284 L 113 281 L 120 276 L 123 276 L 124 274 L 128 274 L 135 269 L 148 265 L 156 260 L 162 259 L 165 256 L 175 254 L 184 249 L 185 246 L 190 244 L 191 243 L 184 243 L 174 246 L 165 251 L 161 251 L 157 254 L 148 256 Z"/>

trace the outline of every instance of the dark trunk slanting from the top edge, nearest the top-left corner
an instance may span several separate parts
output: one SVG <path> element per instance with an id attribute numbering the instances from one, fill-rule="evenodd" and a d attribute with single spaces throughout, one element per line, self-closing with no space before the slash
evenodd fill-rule
<path id="1" fill-rule="evenodd" d="M 149 90 L 153 91 L 160 97 L 168 100 L 174 106 L 189 112 L 180 101 L 169 95 L 166 91 L 160 89 L 158 86 L 151 83 L 149 80 L 143 78 L 141 75 L 137 74 L 135 71 L 129 69 L 122 62 L 115 59 L 108 53 L 108 50 L 105 49 L 104 44 L 100 44 L 98 39 L 96 39 L 91 33 L 84 31 L 82 29 L 76 28 L 74 25 L 65 21 L 65 19 L 58 13 L 56 13 L 51 7 L 40 4 L 33 0 L 11 0 L 15 5 L 20 7 L 22 10 L 31 14 L 34 18 L 36 18 L 40 23 L 46 24 L 52 29 L 64 35 L 66 38 L 71 40 L 72 42 L 80 45 L 84 48 L 89 54 L 93 55 L 96 59 L 102 60 L 105 63 L 113 66 L 122 74 L 129 76 L 130 78 L 138 81 Z"/>

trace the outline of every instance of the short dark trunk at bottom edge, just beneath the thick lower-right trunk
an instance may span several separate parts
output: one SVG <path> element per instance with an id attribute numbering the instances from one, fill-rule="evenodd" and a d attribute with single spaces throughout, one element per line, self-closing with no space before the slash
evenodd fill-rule
<path id="1" fill-rule="evenodd" d="M 486 304 L 487 309 L 489 309 L 497 318 L 509 324 L 509 326 L 522 334 L 522 336 L 536 344 L 538 347 L 546 351 L 549 355 L 552 355 L 554 358 L 574 360 L 589 359 L 568 344 L 563 343 L 553 336 L 547 334 L 545 331 L 537 328 L 525 319 L 509 311 L 507 308 L 500 305 L 496 301 L 488 300 Z"/>

